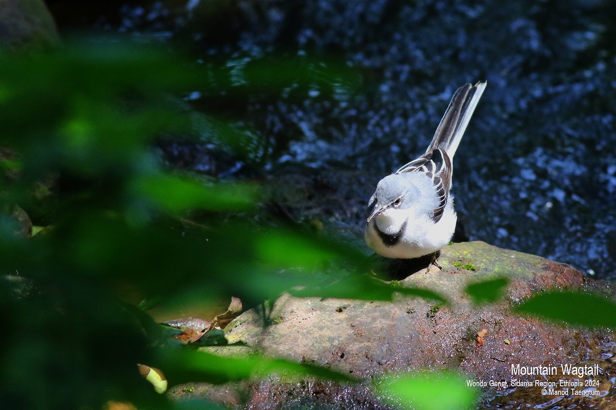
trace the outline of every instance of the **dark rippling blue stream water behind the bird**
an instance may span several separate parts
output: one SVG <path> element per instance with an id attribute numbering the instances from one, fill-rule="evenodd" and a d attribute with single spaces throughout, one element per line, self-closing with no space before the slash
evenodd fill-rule
<path id="1" fill-rule="evenodd" d="M 217 175 L 360 170 L 378 180 L 423 153 L 457 87 L 487 79 L 455 158 L 468 239 L 616 278 L 610 0 L 49 5 L 61 31 L 130 33 L 188 50 L 205 69 L 222 67 L 229 90 L 186 99 L 248 130 L 253 156 L 227 154 L 214 169 L 205 142 L 166 148 Z M 261 62 L 271 77 L 255 90 L 248 68 Z M 357 181 L 349 206 L 360 208 L 373 186 Z M 360 235 L 361 213 L 348 215 L 338 223 Z"/>

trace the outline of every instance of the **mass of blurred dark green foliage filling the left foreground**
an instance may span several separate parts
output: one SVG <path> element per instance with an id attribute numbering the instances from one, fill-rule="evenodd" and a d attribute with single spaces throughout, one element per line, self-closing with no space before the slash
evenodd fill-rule
<path id="1" fill-rule="evenodd" d="M 171 385 L 270 373 L 350 380 L 312 365 L 177 345 L 118 296 L 128 290 L 145 301 L 139 306 L 177 306 L 233 295 L 249 307 L 288 290 L 386 300 L 400 292 L 341 269 L 364 256 L 335 239 L 257 224 L 257 184 L 161 167 L 152 148 L 168 136 L 198 138 L 245 162 L 262 158 L 254 133 L 179 98 L 222 87 L 222 71 L 212 81 L 190 61 L 105 41 L 0 59 L 0 408 L 101 408 L 108 400 L 177 407 L 137 363 L 161 366 Z M 270 74 L 249 66 L 238 89 L 249 93 L 253 82 L 264 92 Z M 294 73 L 279 80 L 329 79 L 339 92 L 344 77 Z M 17 235 L 16 206 L 46 229 Z"/>

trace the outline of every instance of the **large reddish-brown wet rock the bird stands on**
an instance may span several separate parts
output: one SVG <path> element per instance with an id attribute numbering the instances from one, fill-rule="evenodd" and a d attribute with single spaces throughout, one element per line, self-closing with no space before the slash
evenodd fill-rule
<path id="1" fill-rule="evenodd" d="M 454 263 L 475 270 L 456 267 Z M 433 267 L 425 273 L 423 269 L 400 280 L 400 285 L 436 291 L 450 301 L 448 305 L 408 296 L 399 296 L 393 302 L 371 302 L 284 295 L 270 312 L 270 323 L 274 325 L 264 327 L 261 313 L 249 310 L 227 327 L 227 338 L 230 343 L 241 341 L 266 355 L 315 363 L 363 379 L 389 371 L 453 368 L 468 374 L 469 379 L 490 382 L 510 380 L 512 364 L 597 363 L 604 372 L 599 377 L 601 388 L 607 393 L 615 392 L 610 382 L 610 377 L 616 376 L 616 365 L 610 361 L 614 357 L 612 334 L 562 328 L 511 312 L 511 307 L 535 292 L 554 288 L 584 290 L 594 281 L 569 265 L 483 242 L 447 246 L 439 264 L 444 271 Z M 505 296 L 496 303 L 475 306 L 464 291 L 466 286 L 496 277 L 509 280 Z M 483 345 L 478 345 L 477 332 L 482 329 L 488 333 Z M 366 385 L 285 385 L 270 380 L 245 384 L 240 390 L 241 395 L 237 395 L 237 390 L 233 390 L 235 395 L 223 390 L 228 394 L 219 399 L 239 404 L 243 396 L 245 404 L 256 408 L 293 407 L 302 398 L 334 408 L 383 407 Z M 534 387 L 488 390 L 493 396 L 486 400 L 492 402 L 535 405 L 553 399 L 541 395 L 540 388 Z M 205 395 L 211 391 L 203 386 L 195 390 Z M 220 394 L 221 390 L 217 392 Z M 596 400 L 594 406 L 599 408 L 601 403 L 608 403 L 606 397 L 601 403 L 599 399 L 588 398 L 561 400 Z"/>

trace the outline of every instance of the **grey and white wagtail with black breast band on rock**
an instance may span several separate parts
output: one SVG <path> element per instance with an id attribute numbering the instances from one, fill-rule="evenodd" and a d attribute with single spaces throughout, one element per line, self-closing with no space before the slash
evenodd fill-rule
<path id="1" fill-rule="evenodd" d="M 452 240 L 452 159 L 486 82 L 453 94 L 425 154 L 379 181 L 368 203 L 365 240 L 386 258 L 412 259 L 439 251 Z"/>

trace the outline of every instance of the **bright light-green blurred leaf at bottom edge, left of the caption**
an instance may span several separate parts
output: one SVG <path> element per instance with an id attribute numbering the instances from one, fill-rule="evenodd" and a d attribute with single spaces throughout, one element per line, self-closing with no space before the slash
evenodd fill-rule
<path id="1" fill-rule="evenodd" d="M 394 374 L 375 382 L 376 392 L 400 409 L 474 409 L 479 393 L 466 386 L 466 377 L 451 371 Z"/>

